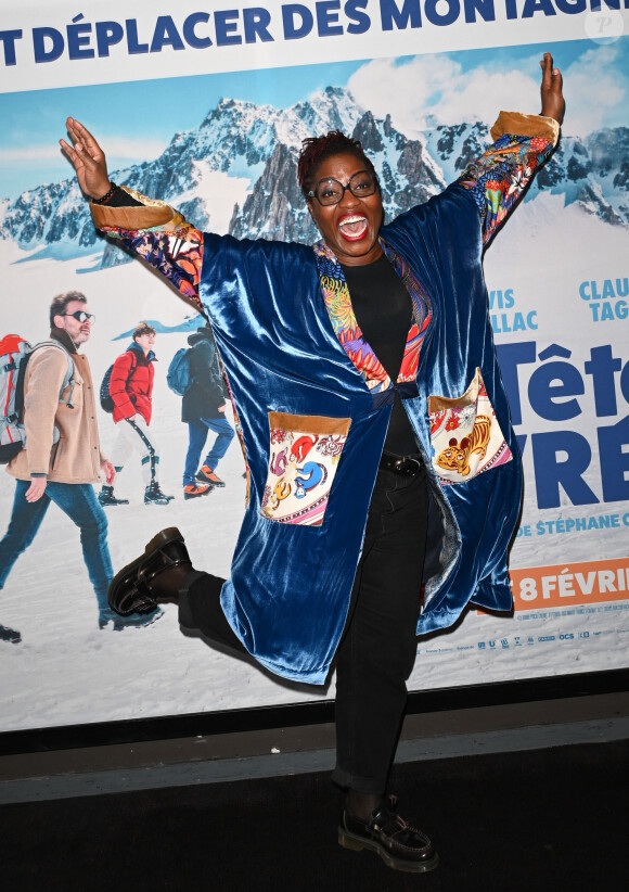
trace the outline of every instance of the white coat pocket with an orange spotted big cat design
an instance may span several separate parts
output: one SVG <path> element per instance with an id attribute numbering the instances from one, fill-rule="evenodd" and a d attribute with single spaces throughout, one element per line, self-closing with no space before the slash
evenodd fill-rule
<path id="1" fill-rule="evenodd" d="M 463 396 L 428 397 L 433 468 L 441 483 L 465 483 L 511 461 L 480 369 Z"/>

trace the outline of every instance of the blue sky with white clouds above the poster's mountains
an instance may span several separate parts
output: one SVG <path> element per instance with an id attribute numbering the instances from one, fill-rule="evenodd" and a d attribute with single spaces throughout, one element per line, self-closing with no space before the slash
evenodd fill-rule
<path id="1" fill-rule="evenodd" d="M 566 78 L 566 92 L 569 91 L 570 82 L 579 86 L 578 95 L 568 95 L 568 114 L 572 110 L 574 115 L 579 103 L 590 109 L 596 105 L 599 114 L 594 124 L 614 126 L 626 123 L 629 93 L 628 42 L 629 38 L 625 37 L 613 47 L 601 47 L 589 40 L 551 46 L 555 64 L 564 73 L 570 74 L 570 78 Z M 59 138 L 65 136 L 64 120 L 67 115 L 82 120 L 101 138 L 105 146 L 116 146 L 113 154 L 112 151 L 108 152 L 111 167 L 115 168 L 155 157 L 175 132 L 196 127 L 222 97 L 286 107 L 306 99 L 316 90 L 330 85 L 346 86 L 351 80 L 350 86 L 355 91 L 362 90 L 359 101 L 370 103 L 373 94 L 374 113 L 380 115 L 388 111 L 388 99 L 385 93 L 377 103 L 377 81 L 375 74 L 374 80 L 370 81 L 370 64 L 374 66 L 374 71 L 376 65 L 381 66 L 378 77 L 382 78 L 383 64 L 388 64 L 393 76 L 396 71 L 411 72 L 413 63 L 416 63 L 419 77 L 423 77 L 426 66 L 438 65 L 448 78 L 446 85 L 439 84 L 436 78 L 437 86 L 423 99 L 423 113 L 427 113 L 431 105 L 438 113 L 442 104 L 445 109 L 450 109 L 451 114 L 455 114 L 457 102 L 452 101 L 453 94 L 447 95 L 448 88 L 452 87 L 454 80 L 459 97 L 463 97 L 461 84 L 470 82 L 478 72 L 483 76 L 491 73 L 502 76 L 511 72 L 521 78 L 524 74 L 527 78 L 537 80 L 537 60 L 543 49 L 545 48 L 541 46 L 501 47 L 442 53 L 437 56 L 376 60 L 373 63 L 364 60 L 304 65 L 291 68 L 290 76 L 286 68 L 272 68 L 0 94 L 0 115 L 3 122 L 0 130 L 0 197 L 15 197 L 25 189 L 64 179 L 70 174 L 67 162 L 56 148 Z M 592 71 L 600 74 L 593 77 Z M 605 76 L 611 81 L 613 79 L 613 86 L 605 85 Z M 606 105 L 604 101 L 596 102 L 596 84 L 592 81 L 599 79 L 601 97 L 603 100 L 607 99 Z M 514 85 L 519 82 L 521 80 L 513 80 Z M 422 81 L 423 86 L 424 84 Z M 504 78 L 504 84 L 509 84 L 508 78 Z M 535 85 L 529 93 L 534 89 Z M 400 97 L 399 90 L 390 99 L 394 120 L 396 104 L 408 106 L 408 98 Z M 466 107 L 464 103 L 462 107 Z M 513 98 L 511 107 L 518 107 L 518 97 Z M 415 119 L 420 120 L 421 117 L 421 112 L 418 111 Z M 406 122 L 400 118 L 401 124 Z M 583 123 L 582 126 L 586 127 L 587 124 Z"/>

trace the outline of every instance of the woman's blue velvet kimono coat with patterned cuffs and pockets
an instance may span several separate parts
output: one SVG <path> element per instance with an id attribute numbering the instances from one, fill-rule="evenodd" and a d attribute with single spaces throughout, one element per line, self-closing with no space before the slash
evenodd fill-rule
<path id="1" fill-rule="evenodd" d="M 415 380 L 399 391 L 432 496 L 432 557 L 418 634 L 452 624 L 470 600 L 497 610 L 512 603 L 506 552 L 519 510 L 522 466 L 496 360 L 482 257 L 484 241 L 552 148 L 544 137 L 547 118 L 519 117 L 528 122 L 518 122 L 523 136 L 501 137 L 442 194 L 381 231 L 385 246 L 421 284 L 429 311 Z M 125 211 L 139 212 L 139 220 L 144 208 Z M 170 227 L 180 242 L 190 238 L 181 218 L 159 229 L 131 229 L 133 215 L 120 224 L 117 214 L 99 209 L 94 219 L 131 249 L 150 244 L 145 259 L 176 281 L 175 239 L 166 243 L 164 233 Z M 312 247 L 200 238 L 195 289 L 214 330 L 249 468 L 249 498 L 221 603 L 262 665 L 322 684 L 346 621 L 397 385 L 374 395 L 339 342 Z M 447 480 L 435 466 L 431 430 L 448 406 L 459 411 L 477 369 L 489 406 L 484 418 L 499 425 L 502 459 Z M 445 398 L 435 411 L 431 396 Z M 471 402 L 474 394 L 463 404 Z M 458 416 L 448 418 L 458 423 Z M 470 436 L 465 445 L 472 448 Z M 483 444 L 476 446 L 480 455 Z M 328 487 L 319 501 L 316 488 L 308 490 L 312 474 Z M 286 512 L 291 486 L 294 510 Z M 301 512 L 299 492 L 310 499 Z"/>

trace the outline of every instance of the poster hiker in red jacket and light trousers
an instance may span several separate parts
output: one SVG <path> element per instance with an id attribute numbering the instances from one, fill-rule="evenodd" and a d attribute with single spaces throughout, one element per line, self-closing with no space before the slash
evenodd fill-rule
<path id="1" fill-rule="evenodd" d="M 144 477 L 144 505 L 168 505 L 174 496 L 165 495 L 159 486 L 159 451 L 153 432 L 149 431 L 153 412 L 154 344 L 153 326 L 139 322 L 131 343 L 114 362 L 110 395 L 114 400 L 113 415 L 118 436 L 112 460 L 119 474 L 131 453 L 137 453 Z M 103 485 L 99 501 L 103 507 L 129 504 L 128 499 L 115 496 L 113 483 L 110 482 Z"/>

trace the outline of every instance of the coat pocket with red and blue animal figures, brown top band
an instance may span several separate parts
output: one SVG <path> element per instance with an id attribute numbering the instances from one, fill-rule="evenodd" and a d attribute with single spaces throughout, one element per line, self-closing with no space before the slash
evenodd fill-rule
<path id="1" fill-rule="evenodd" d="M 321 526 L 350 424 L 349 418 L 269 412 L 270 460 L 262 517 Z"/>

